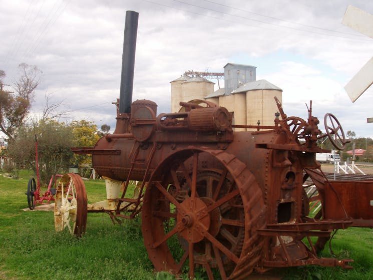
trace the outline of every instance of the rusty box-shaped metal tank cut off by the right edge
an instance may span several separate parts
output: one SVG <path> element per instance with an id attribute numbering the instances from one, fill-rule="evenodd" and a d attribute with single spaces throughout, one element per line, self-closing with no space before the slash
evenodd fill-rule
<path id="1" fill-rule="evenodd" d="M 329 181 L 325 184 L 325 218 L 344 219 L 342 203 L 351 226 L 373 227 L 373 181 Z M 340 200 L 340 202 L 339 202 Z"/>

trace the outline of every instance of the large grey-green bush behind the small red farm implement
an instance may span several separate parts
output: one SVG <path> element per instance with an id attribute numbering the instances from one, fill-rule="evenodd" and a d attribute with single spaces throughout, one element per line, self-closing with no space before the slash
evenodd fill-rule
<path id="1" fill-rule="evenodd" d="M 41 120 L 19 127 L 8 145 L 8 155 L 18 168 L 32 168 L 36 173 L 35 135 L 38 140 L 39 170 L 42 184 L 53 174 L 65 173 L 73 158 L 73 133 L 69 125 L 55 120 Z"/>

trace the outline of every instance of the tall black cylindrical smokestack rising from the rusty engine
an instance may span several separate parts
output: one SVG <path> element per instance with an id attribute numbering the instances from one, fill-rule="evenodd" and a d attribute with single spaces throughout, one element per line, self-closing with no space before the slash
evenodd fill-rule
<path id="1" fill-rule="evenodd" d="M 123 56 L 119 113 L 131 113 L 133 73 L 135 69 L 136 37 L 139 13 L 126 12 L 124 26 Z"/>

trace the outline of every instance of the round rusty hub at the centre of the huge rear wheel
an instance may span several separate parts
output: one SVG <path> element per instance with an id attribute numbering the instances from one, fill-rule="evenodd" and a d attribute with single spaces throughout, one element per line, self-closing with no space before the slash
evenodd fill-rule
<path id="1" fill-rule="evenodd" d="M 197 197 L 185 199 L 178 209 L 177 223 L 184 226 L 180 234 L 186 240 L 192 243 L 201 241 L 204 237 L 203 233 L 210 227 L 207 205 Z"/>

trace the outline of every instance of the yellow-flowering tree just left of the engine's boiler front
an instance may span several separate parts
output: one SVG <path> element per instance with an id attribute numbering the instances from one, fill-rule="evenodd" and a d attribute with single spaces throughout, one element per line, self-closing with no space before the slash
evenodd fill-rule
<path id="1" fill-rule="evenodd" d="M 81 120 L 73 121 L 70 124 L 74 135 L 74 147 L 93 147 L 96 142 L 100 139 L 97 125 L 93 122 Z M 86 155 L 74 155 L 74 164 L 92 164 L 91 156 Z"/>

